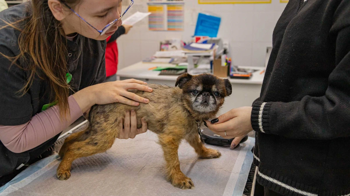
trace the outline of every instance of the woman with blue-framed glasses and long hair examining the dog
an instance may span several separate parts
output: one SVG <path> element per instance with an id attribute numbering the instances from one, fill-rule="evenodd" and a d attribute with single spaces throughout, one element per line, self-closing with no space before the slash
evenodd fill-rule
<path id="1" fill-rule="evenodd" d="M 0 13 L 0 176 L 47 150 L 94 104 L 149 102 L 127 91 L 152 92 L 142 81 L 102 83 L 106 38 L 125 12 L 121 0 L 32 0 Z M 119 138 L 147 130 L 136 125 L 127 112 Z"/>

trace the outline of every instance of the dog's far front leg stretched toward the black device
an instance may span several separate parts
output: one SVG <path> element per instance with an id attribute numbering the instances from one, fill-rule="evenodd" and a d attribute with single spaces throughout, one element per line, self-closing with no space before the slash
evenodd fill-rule
<path id="1" fill-rule="evenodd" d="M 217 150 L 206 148 L 201 142 L 201 138 L 197 131 L 193 131 L 187 138 L 186 141 L 195 149 L 196 153 L 200 158 L 219 158 L 221 153 Z"/>

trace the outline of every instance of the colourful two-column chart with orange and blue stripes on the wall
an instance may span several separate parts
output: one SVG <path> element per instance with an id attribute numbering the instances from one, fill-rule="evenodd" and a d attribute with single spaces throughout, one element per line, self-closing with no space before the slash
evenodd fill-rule
<path id="1" fill-rule="evenodd" d="M 183 31 L 184 3 L 179 0 L 147 3 L 148 29 L 152 31 Z"/>

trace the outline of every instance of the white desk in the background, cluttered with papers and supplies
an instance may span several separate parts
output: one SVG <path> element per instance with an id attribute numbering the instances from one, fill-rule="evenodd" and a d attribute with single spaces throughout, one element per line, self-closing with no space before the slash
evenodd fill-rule
<path id="1" fill-rule="evenodd" d="M 160 71 L 148 70 L 149 68 L 155 66 L 162 67 L 172 67 L 172 64 L 163 64 L 163 63 L 143 63 L 138 62 L 134 65 L 125 67 L 118 70 L 117 80 L 126 80 L 134 78 L 137 80 L 142 80 L 147 83 L 154 84 L 167 84 L 175 86 L 175 82 L 178 76 L 165 76 L 158 75 Z M 259 97 L 262 80 L 264 79 L 264 74 L 260 75 L 260 72 L 264 70 L 263 67 L 240 67 L 240 68 L 252 68 L 259 69 L 253 76 L 246 79 L 230 79 L 232 84 L 232 95 L 225 98 L 224 106 L 221 110 L 221 114 L 228 112 L 232 108 L 241 107 L 241 106 L 251 106 L 253 101 Z"/>

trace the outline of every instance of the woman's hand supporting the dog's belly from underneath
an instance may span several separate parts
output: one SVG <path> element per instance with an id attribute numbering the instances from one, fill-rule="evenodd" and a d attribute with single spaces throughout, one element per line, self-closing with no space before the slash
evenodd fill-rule
<path id="1" fill-rule="evenodd" d="M 135 138 L 136 135 L 145 133 L 147 131 L 147 122 L 144 119 L 141 119 L 141 122 L 142 122 L 142 127 L 138 129 L 136 112 L 134 110 L 126 111 L 124 116 L 124 129 L 123 129 L 123 122 L 121 121 L 119 123 L 119 130 L 121 131 L 118 138 L 133 139 Z"/>

